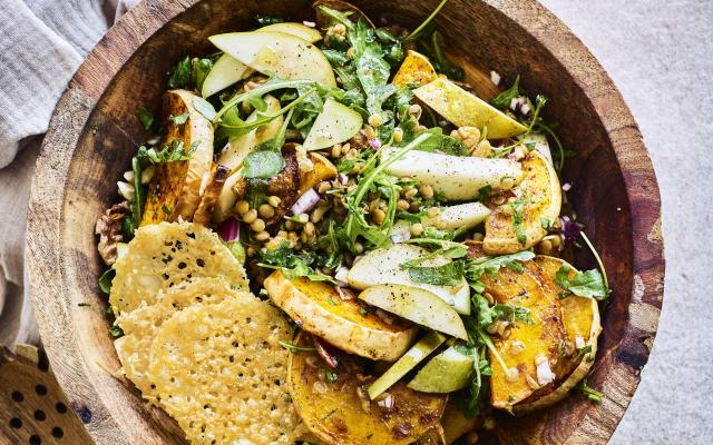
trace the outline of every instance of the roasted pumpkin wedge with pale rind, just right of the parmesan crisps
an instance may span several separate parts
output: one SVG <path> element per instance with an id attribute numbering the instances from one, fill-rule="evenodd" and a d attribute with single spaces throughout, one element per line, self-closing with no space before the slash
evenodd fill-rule
<path id="1" fill-rule="evenodd" d="M 351 354 L 393 362 L 411 346 L 412 325 L 391 324 L 358 299 L 345 299 L 329 283 L 300 277 L 287 279 L 281 270 L 264 281 L 267 295 L 304 330 Z"/>

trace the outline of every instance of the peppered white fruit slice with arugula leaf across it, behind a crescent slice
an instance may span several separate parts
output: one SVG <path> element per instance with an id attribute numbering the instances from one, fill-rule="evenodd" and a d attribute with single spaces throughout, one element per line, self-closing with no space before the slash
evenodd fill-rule
<path id="1" fill-rule="evenodd" d="M 413 283 L 408 270 L 401 265 L 429 255 L 422 247 L 411 244 L 394 244 L 385 249 L 374 249 L 356 261 L 346 275 L 346 281 L 355 289 L 365 289 L 377 285 L 407 285 L 428 290 L 437 295 L 457 313 L 470 314 L 470 288 L 463 278 L 456 286 L 429 285 Z M 437 257 L 421 263 L 423 267 L 443 266 L 450 258 Z"/>

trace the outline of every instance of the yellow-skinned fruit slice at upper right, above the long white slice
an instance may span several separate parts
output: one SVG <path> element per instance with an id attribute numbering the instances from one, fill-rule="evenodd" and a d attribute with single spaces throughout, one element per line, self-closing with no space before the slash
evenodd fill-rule
<path id="1" fill-rule="evenodd" d="M 490 103 L 445 77 L 413 90 L 416 97 L 458 127 L 488 127 L 488 138 L 502 139 L 527 129 Z"/>

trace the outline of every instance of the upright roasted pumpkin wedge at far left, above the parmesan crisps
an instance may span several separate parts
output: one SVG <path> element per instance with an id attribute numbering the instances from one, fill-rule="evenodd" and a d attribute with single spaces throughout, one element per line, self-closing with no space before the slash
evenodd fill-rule
<path id="1" fill-rule="evenodd" d="M 163 144 L 169 149 L 191 154 L 189 160 L 162 162 L 148 185 L 141 226 L 160 221 L 175 221 L 179 217 L 192 220 L 201 204 L 201 185 L 211 176 L 213 165 L 213 125 L 193 106 L 197 96 L 186 90 L 164 93 Z M 188 118 L 176 123 L 172 116 Z"/>

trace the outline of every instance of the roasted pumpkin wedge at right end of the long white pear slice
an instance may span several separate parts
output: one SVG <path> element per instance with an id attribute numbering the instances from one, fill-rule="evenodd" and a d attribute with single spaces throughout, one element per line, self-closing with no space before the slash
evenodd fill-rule
<path id="1" fill-rule="evenodd" d="M 561 191 L 553 165 L 539 151 L 530 151 L 521 162 L 522 180 L 512 190 L 516 200 L 495 209 L 485 221 L 482 246 L 488 255 L 512 254 L 539 243 L 559 216 Z"/>

